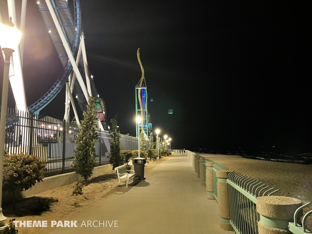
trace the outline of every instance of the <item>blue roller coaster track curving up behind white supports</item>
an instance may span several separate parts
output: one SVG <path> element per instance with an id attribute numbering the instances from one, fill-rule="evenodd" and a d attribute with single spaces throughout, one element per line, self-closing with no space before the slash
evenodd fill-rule
<path id="1" fill-rule="evenodd" d="M 72 0 L 72 1 L 74 2 L 74 6 L 73 6 L 74 17 L 72 15 L 72 11 L 67 0 L 51 0 L 51 3 L 55 10 L 58 21 L 60 22 L 60 25 L 66 37 L 66 40 L 71 47 L 71 52 L 74 58 L 76 59 L 77 54 L 78 54 L 79 43 L 80 43 L 80 36 L 82 34 L 81 8 L 80 8 L 80 0 Z M 41 15 L 43 17 L 43 20 L 46 24 L 47 31 L 50 33 L 52 43 L 55 46 L 57 54 L 64 67 L 63 72 L 61 73 L 59 78 L 56 80 L 54 85 L 50 88 L 50 90 L 48 90 L 45 95 L 43 95 L 39 100 L 37 100 L 35 103 L 33 103 L 32 105 L 28 107 L 29 111 L 34 112 L 35 114 L 38 114 L 40 110 L 42 110 L 46 105 L 48 105 L 51 102 L 51 100 L 53 100 L 56 97 L 56 95 L 60 92 L 64 84 L 68 82 L 69 75 L 71 75 L 72 77 L 73 71 L 72 71 L 72 65 L 69 62 L 69 58 L 66 54 L 61 38 L 57 32 L 56 26 L 53 22 L 49 9 L 46 5 L 46 1 L 37 0 L 36 2 L 39 7 L 39 11 L 41 12 Z M 83 62 L 82 54 L 80 55 L 78 68 L 80 70 L 80 73 L 86 85 L 85 69 L 84 69 L 84 62 Z M 89 71 L 89 74 L 91 74 L 90 71 Z M 98 92 L 95 88 L 93 78 L 90 79 L 90 85 L 91 85 L 92 96 L 94 98 L 98 98 Z M 79 86 L 77 79 L 75 80 L 73 95 L 76 96 L 77 98 L 80 110 L 82 112 L 86 111 L 87 101 L 82 93 L 82 90 Z M 106 116 L 105 116 L 105 119 L 106 119 Z"/>

